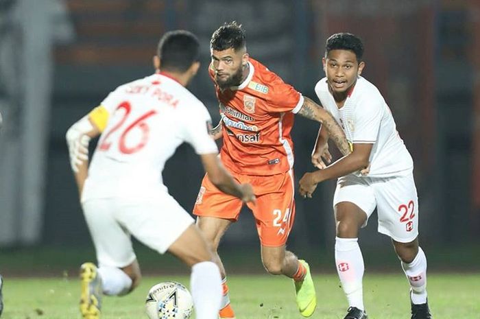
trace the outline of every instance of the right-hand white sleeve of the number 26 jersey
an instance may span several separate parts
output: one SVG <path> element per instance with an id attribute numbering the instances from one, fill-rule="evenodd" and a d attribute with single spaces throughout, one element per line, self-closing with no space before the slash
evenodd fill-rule
<path id="1" fill-rule="evenodd" d="M 217 153 L 217 144 L 209 134 L 212 128 L 212 119 L 203 104 L 189 108 L 187 116 L 182 116 L 184 140 L 192 145 L 197 154 Z"/>

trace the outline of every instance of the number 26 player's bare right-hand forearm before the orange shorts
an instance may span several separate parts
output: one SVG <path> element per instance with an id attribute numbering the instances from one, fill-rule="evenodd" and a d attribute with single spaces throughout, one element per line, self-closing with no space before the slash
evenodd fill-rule
<path id="1" fill-rule="evenodd" d="M 208 179 L 219 190 L 229 195 L 240 198 L 243 202 L 252 202 L 255 204 L 256 198 L 250 184 L 239 184 L 221 164 L 218 154 L 201 154 L 202 163 Z"/>

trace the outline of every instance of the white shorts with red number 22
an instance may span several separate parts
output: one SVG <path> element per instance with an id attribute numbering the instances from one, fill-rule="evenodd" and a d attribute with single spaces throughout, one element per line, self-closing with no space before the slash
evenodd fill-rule
<path id="1" fill-rule="evenodd" d="M 372 215 L 379 214 L 379 233 L 395 241 L 408 243 L 418 236 L 418 197 L 413 173 L 388 178 L 341 177 L 333 197 L 333 206 L 352 202 Z M 363 225 L 366 226 L 366 222 Z"/>

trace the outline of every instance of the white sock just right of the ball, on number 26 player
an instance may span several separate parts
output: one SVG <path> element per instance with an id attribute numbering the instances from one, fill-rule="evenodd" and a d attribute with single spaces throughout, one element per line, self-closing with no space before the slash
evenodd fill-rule
<path id="1" fill-rule="evenodd" d="M 190 277 L 190 290 L 197 319 L 217 319 L 221 301 L 220 270 L 211 261 L 195 263 Z"/>

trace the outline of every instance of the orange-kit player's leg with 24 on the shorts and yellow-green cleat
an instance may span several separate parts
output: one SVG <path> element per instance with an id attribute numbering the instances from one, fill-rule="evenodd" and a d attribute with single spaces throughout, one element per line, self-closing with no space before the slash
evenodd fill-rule
<path id="1" fill-rule="evenodd" d="M 298 310 L 302 316 L 309 317 L 317 305 L 309 265 L 285 249 L 295 220 L 293 174 L 287 172 L 249 181 L 257 196 L 256 205 L 250 208 L 256 219 L 263 266 L 270 274 L 284 274 L 293 279 Z"/>

